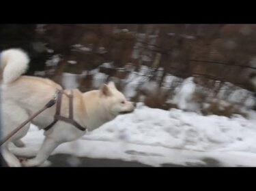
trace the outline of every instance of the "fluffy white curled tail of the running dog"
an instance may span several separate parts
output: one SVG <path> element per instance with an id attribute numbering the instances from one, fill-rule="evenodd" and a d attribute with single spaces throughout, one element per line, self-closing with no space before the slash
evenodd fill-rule
<path id="1" fill-rule="evenodd" d="M 3 83 L 10 84 L 23 75 L 29 67 L 29 56 L 18 48 L 3 50 L 0 54 L 0 67 L 3 71 Z"/>

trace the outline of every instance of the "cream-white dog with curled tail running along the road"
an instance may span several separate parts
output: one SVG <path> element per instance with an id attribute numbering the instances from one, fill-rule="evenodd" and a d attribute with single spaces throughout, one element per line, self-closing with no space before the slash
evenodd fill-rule
<path id="1" fill-rule="evenodd" d="M 29 58 L 23 50 L 10 49 L 1 52 L 2 75 L 2 137 L 5 137 L 23 121 L 27 120 L 35 111 L 38 111 L 48 101 L 53 99 L 57 89 L 61 86 L 55 82 L 42 78 L 22 75 L 28 67 Z M 70 90 L 64 90 L 70 94 Z M 113 120 L 119 114 L 132 112 L 135 103 L 126 101 L 124 95 L 115 88 L 115 84 L 103 84 L 99 90 L 80 92 L 73 90 L 74 120 L 87 131 L 93 131 L 102 124 Z M 61 99 L 61 116 L 68 117 L 69 99 L 63 95 Z M 31 122 L 39 128 L 45 128 L 55 116 L 56 104 L 46 109 Z M 20 162 L 8 149 L 10 142 L 18 147 L 24 146 L 20 141 L 27 134 L 29 124 L 18 131 L 11 139 L 1 146 L 3 158 L 10 167 L 34 167 L 46 162 L 48 156 L 55 148 L 64 142 L 73 141 L 83 136 L 86 131 L 81 131 L 76 126 L 61 120 L 45 131 L 44 142 L 40 150 L 30 160 Z M 85 145 L 86 146 L 86 145 Z"/>

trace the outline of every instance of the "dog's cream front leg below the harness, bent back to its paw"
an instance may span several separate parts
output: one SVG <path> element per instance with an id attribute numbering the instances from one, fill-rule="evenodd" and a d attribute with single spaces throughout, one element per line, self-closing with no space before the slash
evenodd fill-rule
<path id="1" fill-rule="evenodd" d="M 40 164 L 43 164 L 47 158 L 51 155 L 53 150 L 61 144 L 60 142 L 55 141 L 54 139 L 50 137 L 45 137 L 44 143 L 42 143 L 42 146 L 35 158 L 31 158 L 29 160 L 24 160 L 22 162 L 24 167 L 35 167 L 39 166 Z"/>

